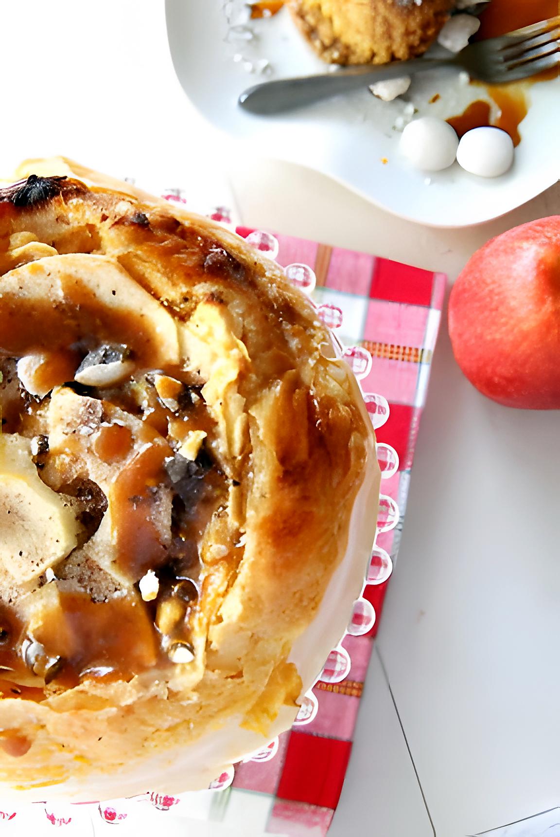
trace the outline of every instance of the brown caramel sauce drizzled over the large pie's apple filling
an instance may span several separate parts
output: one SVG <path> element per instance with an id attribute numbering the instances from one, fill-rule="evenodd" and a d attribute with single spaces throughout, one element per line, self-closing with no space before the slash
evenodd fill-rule
<path id="1" fill-rule="evenodd" d="M 264 15 L 266 4 L 260 5 Z M 280 5 L 277 4 L 278 8 Z M 200 249 L 201 259 L 206 258 L 207 253 L 215 253 L 213 243 L 206 239 L 201 239 Z M 229 262 L 217 266 L 212 263 L 211 270 L 216 275 L 220 275 L 220 271 L 228 275 L 227 271 L 237 270 L 237 267 Z M 107 315 L 87 291 L 79 303 L 81 311 L 87 312 L 85 319 L 99 341 L 110 342 L 118 335 L 120 342 L 132 348 L 139 365 L 150 362 L 145 339 L 149 335 L 137 312 L 130 311 L 130 316 Z M 82 322 L 69 311 L 68 327 L 61 330 L 53 326 L 48 304 L 30 303 L 23 307 L 24 311 L 15 303 L 0 306 L 0 352 L 5 357 L 18 358 L 31 350 L 47 349 L 52 358 L 43 372 L 49 386 L 71 381 L 80 357 L 79 353 L 78 357 L 74 356 L 74 351 L 69 352 L 67 347 L 84 336 Z M 162 533 L 155 520 L 154 495 L 160 486 L 170 485 L 165 471 L 165 461 L 175 455 L 167 440 L 170 427 L 178 441 L 181 441 L 181 432 L 177 432 L 180 428 L 185 436 L 191 429 L 203 429 L 208 439 L 215 429 L 215 422 L 200 397 L 204 381 L 174 367 L 163 371 L 198 393 L 191 406 L 181 408 L 177 414 L 162 406 L 155 397 L 148 409 L 140 408 L 140 400 L 133 393 L 135 381 L 107 394 L 99 390 L 95 395 L 99 400 L 107 398 L 107 420 L 96 431 L 91 444 L 99 460 L 115 465 L 115 479 L 107 490 L 112 541 L 116 547 L 116 561 L 120 571 L 130 579 L 130 588 L 126 593 L 109 596 L 104 601 L 94 601 L 88 593 L 72 588 L 69 581 L 47 582 L 47 586 L 53 585 L 56 594 L 52 599 L 45 597 L 47 604 L 42 618 L 35 620 L 33 626 L 24 616 L 25 607 L 18 600 L 0 604 L 0 699 L 43 701 L 53 692 L 77 686 L 82 680 L 130 680 L 153 667 L 169 668 L 172 664 L 165 640 L 171 638 L 188 643 L 192 625 L 201 616 L 203 607 L 206 611 L 206 599 L 200 600 L 199 549 L 206 526 L 216 511 L 226 504 L 228 480 L 210 460 L 208 470 L 201 476 L 200 490 L 181 500 L 182 506 L 179 504 L 181 516 L 172 526 L 171 546 L 162 542 Z M 8 393 L 5 384 L 6 379 L 0 383 L 0 410 L 8 419 L 4 431 L 29 435 L 30 429 L 37 426 L 38 433 L 43 434 L 43 425 L 37 416 L 45 403 L 20 396 L 18 390 Z M 133 438 L 129 428 L 111 420 L 111 405 L 143 419 L 140 435 L 135 432 Z M 79 454 L 79 434 L 69 437 L 68 451 Z M 48 460 L 48 454 L 45 458 Z M 44 468 L 40 473 L 46 475 L 48 462 Z M 44 481 L 48 484 L 47 479 Z M 234 559 L 237 561 L 238 556 L 221 558 L 224 573 L 227 573 L 227 567 L 234 565 Z M 135 585 L 148 569 L 155 570 L 160 578 L 160 591 L 152 602 L 145 602 Z M 45 586 L 44 578 L 38 581 L 41 590 L 42 585 Z M 31 595 L 33 597 L 34 593 Z M 157 610 L 168 598 L 181 599 L 182 616 L 171 637 L 166 638 L 157 626 Z M 33 635 L 29 634 L 31 629 Z M 38 644 L 49 665 L 50 660 L 54 661 L 53 676 L 43 675 L 42 670 L 24 659 L 30 643 Z M 17 731 L 13 734 L 8 731 L 0 741 L 0 747 L 6 752 L 23 754 L 27 742 L 19 740 Z"/>

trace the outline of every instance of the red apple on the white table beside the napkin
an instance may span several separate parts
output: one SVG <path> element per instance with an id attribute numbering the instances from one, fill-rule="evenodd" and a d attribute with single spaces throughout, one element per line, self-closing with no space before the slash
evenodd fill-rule
<path id="1" fill-rule="evenodd" d="M 476 251 L 451 290 L 449 333 L 462 372 L 488 398 L 560 409 L 560 215 Z"/>

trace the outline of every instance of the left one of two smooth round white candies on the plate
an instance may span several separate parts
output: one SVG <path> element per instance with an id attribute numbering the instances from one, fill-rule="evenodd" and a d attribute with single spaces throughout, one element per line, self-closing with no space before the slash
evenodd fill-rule
<path id="1" fill-rule="evenodd" d="M 423 172 L 440 172 L 455 161 L 459 140 L 451 125 L 435 116 L 422 116 L 405 126 L 400 151 Z"/>

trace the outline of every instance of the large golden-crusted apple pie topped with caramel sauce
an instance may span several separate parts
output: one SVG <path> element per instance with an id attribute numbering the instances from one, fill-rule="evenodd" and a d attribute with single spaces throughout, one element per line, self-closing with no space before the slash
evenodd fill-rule
<path id="1" fill-rule="evenodd" d="M 373 541 L 374 434 L 313 306 L 237 235 L 62 159 L 18 176 L 0 192 L 0 783 L 140 793 L 168 753 L 293 720 L 310 683 L 290 655 L 366 483 Z M 176 791 L 222 763 L 197 758 Z"/>

